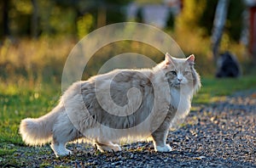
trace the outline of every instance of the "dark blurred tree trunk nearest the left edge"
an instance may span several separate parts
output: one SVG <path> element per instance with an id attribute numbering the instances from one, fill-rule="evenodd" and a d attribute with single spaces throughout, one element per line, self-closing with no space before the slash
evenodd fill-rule
<path id="1" fill-rule="evenodd" d="M 9 36 L 9 0 L 3 0 L 3 37 Z"/>

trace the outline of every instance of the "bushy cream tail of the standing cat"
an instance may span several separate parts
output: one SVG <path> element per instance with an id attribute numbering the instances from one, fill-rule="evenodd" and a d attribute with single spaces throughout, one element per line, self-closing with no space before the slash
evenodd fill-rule
<path id="1" fill-rule="evenodd" d="M 42 145 L 52 140 L 52 129 L 55 119 L 61 112 L 61 107 L 57 106 L 47 115 L 38 119 L 27 118 L 20 122 L 20 134 L 22 140 L 30 145 Z"/>

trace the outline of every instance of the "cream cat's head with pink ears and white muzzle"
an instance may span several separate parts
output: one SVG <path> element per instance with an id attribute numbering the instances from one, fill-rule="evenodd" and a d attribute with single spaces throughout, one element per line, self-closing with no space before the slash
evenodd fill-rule
<path id="1" fill-rule="evenodd" d="M 201 87 L 200 77 L 194 69 L 195 56 L 192 54 L 187 59 L 177 59 L 166 53 L 161 69 L 164 71 L 170 87 L 180 88 L 192 86 L 195 90 Z"/>

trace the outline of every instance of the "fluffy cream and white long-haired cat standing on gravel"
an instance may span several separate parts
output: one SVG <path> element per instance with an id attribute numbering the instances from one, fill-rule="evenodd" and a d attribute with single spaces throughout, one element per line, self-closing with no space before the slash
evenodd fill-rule
<path id="1" fill-rule="evenodd" d="M 188 115 L 201 87 L 194 64 L 193 54 L 177 59 L 166 53 L 152 69 L 113 70 L 74 82 L 48 114 L 21 120 L 21 137 L 29 145 L 50 142 L 56 157 L 73 154 L 66 144 L 80 138 L 103 152 L 149 137 L 155 151 L 169 152 L 169 128 Z"/>

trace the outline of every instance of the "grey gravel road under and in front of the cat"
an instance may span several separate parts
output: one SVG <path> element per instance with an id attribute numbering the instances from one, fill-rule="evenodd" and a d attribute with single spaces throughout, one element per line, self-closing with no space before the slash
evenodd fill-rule
<path id="1" fill-rule="evenodd" d="M 75 155 L 56 159 L 49 146 L 19 147 L 13 159 L 24 167 L 256 167 L 256 91 L 219 100 L 195 105 L 184 126 L 169 133 L 170 153 L 155 153 L 152 143 L 131 143 L 106 154 L 68 144 Z"/>

